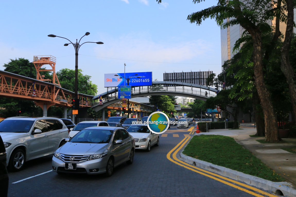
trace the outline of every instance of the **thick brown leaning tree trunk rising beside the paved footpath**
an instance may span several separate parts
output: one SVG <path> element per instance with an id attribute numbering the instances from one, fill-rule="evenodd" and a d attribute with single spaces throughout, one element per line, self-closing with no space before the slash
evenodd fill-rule
<path id="1" fill-rule="evenodd" d="M 261 33 L 260 31 L 249 31 L 254 42 L 254 74 L 255 86 L 258 92 L 259 100 L 262 106 L 265 121 L 265 141 L 278 142 L 280 141 L 276 115 L 274 107 L 271 103 L 271 95 L 264 82 L 262 48 L 261 48 Z"/>

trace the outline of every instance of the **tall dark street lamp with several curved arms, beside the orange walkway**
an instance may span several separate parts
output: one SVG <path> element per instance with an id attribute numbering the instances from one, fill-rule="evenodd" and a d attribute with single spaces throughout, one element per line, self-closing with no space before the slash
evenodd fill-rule
<path id="1" fill-rule="evenodd" d="M 90 32 L 86 32 L 81 38 L 80 40 L 86 36 L 86 35 L 89 35 Z M 60 36 L 57 36 L 57 35 L 53 35 L 53 34 L 49 34 L 48 37 L 59 37 L 59 38 L 64 38 L 64 37 L 60 37 Z M 77 42 L 77 39 L 76 39 L 76 43 L 72 43 L 69 39 L 67 38 L 64 38 L 66 40 L 68 40 L 70 43 L 66 43 L 64 44 L 64 46 L 68 46 L 69 44 L 72 44 L 73 47 L 75 48 L 75 99 L 78 100 L 78 51 L 79 51 L 79 48 L 81 47 L 81 45 L 83 45 L 84 43 L 82 44 L 79 44 L 80 43 L 80 40 L 79 42 Z M 85 43 L 96 43 L 96 44 L 104 44 L 103 42 L 85 42 Z M 76 109 L 78 110 L 79 108 L 79 103 L 78 105 L 76 105 Z M 75 120 L 74 120 L 75 124 L 77 124 L 77 116 L 75 114 Z"/>

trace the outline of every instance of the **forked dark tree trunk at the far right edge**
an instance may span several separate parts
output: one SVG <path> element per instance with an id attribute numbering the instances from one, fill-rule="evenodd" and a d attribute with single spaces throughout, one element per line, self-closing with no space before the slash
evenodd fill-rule
<path id="1" fill-rule="evenodd" d="M 281 48 L 281 71 L 284 73 L 291 97 L 291 104 L 293 109 L 293 123 L 296 123 L 296 85 L 294 82 L 294 69 L 289 61 L 289 49 L 291 40 L 293 38 L 293 0 L 286 0 L 287 2 L 287 29 L 283 47 Z"/>

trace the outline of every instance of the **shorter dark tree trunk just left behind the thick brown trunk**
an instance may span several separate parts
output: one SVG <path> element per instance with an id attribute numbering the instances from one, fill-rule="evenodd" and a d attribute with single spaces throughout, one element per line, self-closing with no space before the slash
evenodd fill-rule
<path id="1" fill-rule="evenodd" d="M 256 122 L 256 130 L 257 136 L 265 136 L 264 128 L 264 115 L 262 113 L 262 108 L 260 105 L 260 100 L 258 98 L 258 93 L 254 92 L 252 97 L 252 104 L 253 104 L 253 110 L 255 113 L 255 122 Z"/>

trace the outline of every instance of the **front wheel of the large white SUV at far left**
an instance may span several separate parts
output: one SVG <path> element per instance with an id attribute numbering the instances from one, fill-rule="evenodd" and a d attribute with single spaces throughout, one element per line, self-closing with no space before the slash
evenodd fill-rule
<path id="1" fill-rule="evenodd" d="M 9 163 L 8 163 L 9 170 L 14 172 L 20 171 L 22 170 L 24 164 L 25 164 L 25 152 L 22 149 L 14 150 L 9 158 Z"/>

